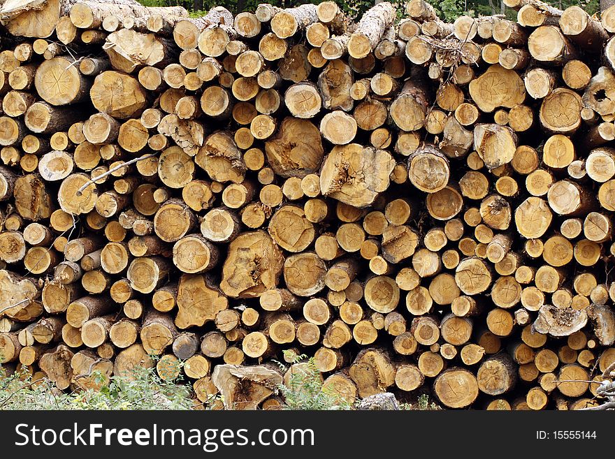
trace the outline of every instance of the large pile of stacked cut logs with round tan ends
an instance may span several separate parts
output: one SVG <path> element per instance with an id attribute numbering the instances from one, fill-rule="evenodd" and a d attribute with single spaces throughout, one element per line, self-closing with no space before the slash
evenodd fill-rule
<path id="1" fill-rule="evenodd" d="M 0 362 L 273 409 L 294 349 L 350 402 L 596 403 L 615 7 L 506 3 L 3 3 Z"/>

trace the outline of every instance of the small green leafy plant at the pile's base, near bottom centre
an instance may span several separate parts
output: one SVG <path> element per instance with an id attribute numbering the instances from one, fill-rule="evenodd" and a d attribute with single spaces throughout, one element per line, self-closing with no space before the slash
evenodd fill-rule
<path id="1" fill-rule="evenodd" d="M 278 386 L 287 409 L 352 409 L 352 405 L 338 394 L 323 388 L 322 376 L 313 357 L 307 358 L 305 354 L 298 356 L 292 351 L 284 351 L 284 357 L 291 360 L 293 365 L 305 364 L 292 367 L 288 383 Z M 282 363 L 278 362 L 278 365 L 282 371 L 288 370 Z"/>

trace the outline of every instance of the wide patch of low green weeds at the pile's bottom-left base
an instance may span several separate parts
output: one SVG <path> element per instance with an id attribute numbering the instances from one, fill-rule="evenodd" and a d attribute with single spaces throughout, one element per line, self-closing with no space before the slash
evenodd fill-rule
<path id="1" fill-rule="evenodd" d="M 103 384 L 102 374 L 94 374 Z M 153 368 L 136 366 L 129 376 L 111 377 L 100 391 L 64 393 L 48 379 L 32 381 L 29 374 L 7 375 L 0 365 L 0 410 L 3 409 L 191 409 L 190 386 L 164 381 Z"/>

